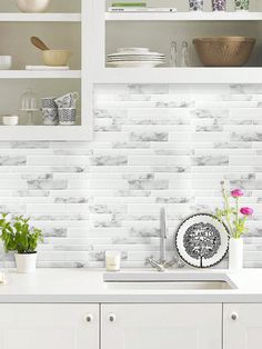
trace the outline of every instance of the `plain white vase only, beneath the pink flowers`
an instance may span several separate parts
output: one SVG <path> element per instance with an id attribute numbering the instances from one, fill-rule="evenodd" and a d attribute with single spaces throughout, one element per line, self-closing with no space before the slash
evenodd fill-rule
<path id="1" fill-rule="evenodd" d="M 243 268 L 243 239 L 230 239 L 229 243 L 229 269 L 240 271 Z"/>

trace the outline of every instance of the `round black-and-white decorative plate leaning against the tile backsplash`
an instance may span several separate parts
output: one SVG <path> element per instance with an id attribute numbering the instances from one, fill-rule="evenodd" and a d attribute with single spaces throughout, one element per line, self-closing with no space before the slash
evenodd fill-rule
<path id="1" fill-rule="evenodd" d="M 210 268 L 218 265 L 229 249 L 229 230 L 216 217 L 198 213 L 187 218 L 174 237 L 180 258 L 189 266 Z"/>

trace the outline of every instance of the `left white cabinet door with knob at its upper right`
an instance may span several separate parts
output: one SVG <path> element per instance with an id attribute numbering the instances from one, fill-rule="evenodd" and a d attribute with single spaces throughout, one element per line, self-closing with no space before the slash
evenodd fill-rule
<path id="1" fill-rule="evenodd" d="M 99 349 L 99 306 L 0 305 L 0 349 Z"/>

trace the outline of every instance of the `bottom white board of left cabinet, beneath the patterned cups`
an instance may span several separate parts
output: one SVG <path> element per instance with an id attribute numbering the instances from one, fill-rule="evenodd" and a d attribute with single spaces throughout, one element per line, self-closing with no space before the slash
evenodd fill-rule
<path id="1" fill-rule="evenodd" d="M 90 140 L 88 126 L 0 126 L 1 140 Z"/>

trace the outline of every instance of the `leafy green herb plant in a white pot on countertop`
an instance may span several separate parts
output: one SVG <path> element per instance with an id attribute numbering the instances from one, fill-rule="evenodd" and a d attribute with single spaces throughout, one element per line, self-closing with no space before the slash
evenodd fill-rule
<path id="1" fill-rule="evenodd" d="M 0 239 L 6 252 L 14 251 L 18 272 L 33 272 L 37 263 L 37 247 L 43 241 L 42 231 L 29 226 L 30 218 L 23 216 L 10 220 L 8 213 L 0 219 Z"/>

